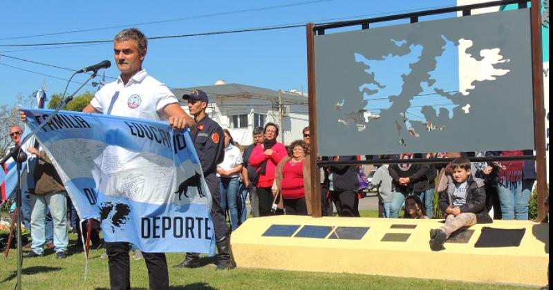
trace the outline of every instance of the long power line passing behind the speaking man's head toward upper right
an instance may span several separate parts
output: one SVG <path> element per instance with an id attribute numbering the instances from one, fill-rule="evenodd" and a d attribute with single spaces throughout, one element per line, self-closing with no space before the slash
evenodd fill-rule
<path id="1" fill-rule="evenodd" d="M 332 0 L 328 0 L 332 1 Z M 451 6 L 437 6 L 437 7 L 430 7 L 430 8 L 422 8 L 422 9 L 413 9 L 413 10 L 401 10 L 401 11 L 394 11 L 394 12 L 382 12 L 382 13 L 375 13 L 375 14 L 365 14 L 365 15 L 359 15 L 356 17 L 342 17 L 339 19 L 351 19 L 351 18 L 357 18 L 357 17 L 368 17 L 368 16 L 377 16 L 382 14 L 395 14 L 399 12 L 409 12 L 409 11 L 418 11 L 418 10 L 427 10 L 427 9 L 434 9 L 434 8 L 447 8 Z M 332 19 L 332 20 L 338 20 L 338 19 Z M 310 22 L 318 22 L 318 21 L 310 21 Z M 156 39 L 172 39 L 172 38 L 182 38 L 182 37 L 200 37 L 200 36 L 209 36 L 209 35 L 226 35 L 226 34 L 233 34 L 233 33 L 243 33 L 243 32 L 257 32 L 257 31 L 268 31 L 268 30 L 284 30 L 284 29 L 291 29 L 291 28 L 304 28 L 306 22 L 301 23 L 294 23 L 294 24 L 288 24 L 288 25 L 278 25 L 278 26 L 264 26 L 264 27 L 257 27 L 257 28 L 244 28 L 244 29 L 236 29 L 236 30 L 219 30 L 219 31 L 212 31 L 212 32 L 202 32 L 202 33 L 193 33 L 193 34 L 187 34 L 187 35 L 165 35 L 160 37 L 149 37 L 150 40 L 156 40 Z M 318 23 L 319 25 L 327 25 L 332 24 L 334 22 L 328 22 L 328 23 Z M 109 40 L 93 40 L 93 41 L 63 41 L 63 42 L 47 42 L 47 43 L 19 43 L 19 44 L 1 44 L 0 47 L 21 47 L 21 46 L 66 46 L 66 45 L 74 45 L 74 44 L 91 44 L 91 43 L 109 43 L 113 41 L 113 39 Z"/>

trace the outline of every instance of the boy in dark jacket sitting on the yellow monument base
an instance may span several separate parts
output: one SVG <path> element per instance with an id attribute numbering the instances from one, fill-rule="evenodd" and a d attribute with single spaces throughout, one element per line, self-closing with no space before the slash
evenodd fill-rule
<path id="1" fill-rule="evenodd" d="M 453 177 L 449 177 L 447 189 L 440 193 L 438 204 L 447 214 L 440 229 L 430 230 L 430 248 L 440 251 L 449 235 L 463 226 L 476 223 L 491 223 L 486 209 L 486 193 L 483 184 L 471 177 L 471 162 L 459 157 L 451 162 Z"/>

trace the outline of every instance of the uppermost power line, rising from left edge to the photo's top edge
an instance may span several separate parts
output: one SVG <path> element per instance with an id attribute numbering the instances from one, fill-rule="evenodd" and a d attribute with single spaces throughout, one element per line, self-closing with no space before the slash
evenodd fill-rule
<path id="1" fill-rule="evenodd" d="M 216 16 L 225 16 L 225 15 L 240 14 L 240 13 L 245 13 L 245 12 L 258 12 L 258 11 L 264 11 L 264 10 L 289 8 L 289 7 L 294 7 L 294 6 L 304 6 L 304 5 L 314 4 L 314 3 L 330 2 L 330 1 L 334 1 L 334 0 L 305 1 L 305 2 L 300 2 L 300 3 L 283 4 L 283 5 L 277 5 L 277 6 L 268 6 L 268 7 L 263 7 L 263 8 L 250 8 L 250 9 L 233 10 L 233 11 L 227 11 L 227 12 L 200 14 L 200 15 L 189 16 L 189 17 L 184 17 L 184 18 L 177 18 L 177 19 L 165 19 L 165 20 L 158 20 L 158 21 L 131 23 L 131 24 L 118 25 L 118 26 L 107 26 L 107 27 L 102 27 L 102 28 L 69 30 L 69 31 L 64 31 L 64 32 L 52 32 L 52 33 L 46 33 L 46 34 L 41 34 L 41 35 L 26 35 L 26 36 L 21 36 L 21 37 L 6 37 L 6 38 L 0 39 L 0 41 L 1 40 L 10 40 L 10 39 L 26 39 L 26 38 L 32 38 L 32 37 L 53 36 L 53 35 L 66 35 L 66 34 L 71 34 L 71 33 L 91 32 L 91 31 L 97 31 L 97 30 L 108 30 L 108 29 L 113 29 L 113 28 L 124 28 L 124 27 L 132 27 L 132 26 L 146 26 L 146 25 L 151 25 L 151 24 L 169 23 L 169 22 L 185 21 L 185 20 L 198 19 L 198 18 L 209 18 L 209 17 L 216 17 Z"/>

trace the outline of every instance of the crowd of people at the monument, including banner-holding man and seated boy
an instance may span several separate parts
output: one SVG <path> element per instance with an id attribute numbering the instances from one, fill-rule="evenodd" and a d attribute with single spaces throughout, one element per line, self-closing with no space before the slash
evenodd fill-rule
<path id="1" fill-rule="evenodd" d="M 253 144 L 243 148 L 234 142 L 231 133 L 205 113 L 209 97 L 201 90 L 183 95 L 189 113 L 180 107 L 177 97 L 162 83 L 142 69 L 147 52 L 146 37 L 134 28 L 122 30 L 114 39 L 115 61 L 120 78 L 102 87 L 86 113 L 103 113 L 144 119 L 167 119 L 177 130 L 191 128 L 191 137 L 203 168 L 205 182 L 212 193 L 212 221 L 218 249 L 217 269 L 232 269 L 230 237 L 247 218 L 247 200 L 250 215 L 311 215 L 311 172 L 321 177 L 321 212 L 332 216 L 359 217 L 360 194 L 359 166 L 342 165 L 359 160 L 360 156 L 326 156 L 320 160 L 333 161 L 332 165 L 318 167 L 310 163 L 310 129 L 304 128 L 303 139 L 288 148 L 278 142 L 279 126 L 265 124 L 254 128 Z M 144 106 L 135 109 L 127 106 L 126 99 L 140 91 Z M 113 96 L 118 99 L 113 99 Z M 25 120 L 26 116 L 21 115 Z M 21 141 L 21 128 L 13 126 L 10 136 L 15 144 Z M 222 138 L 222 140 L 221 140 Z M 222 141 L 222 142 L 221 142 Z M 24 193 L 24 224 L 30 229 L 32 242 L 28 258 L 44 254 L 44 248 L 54 249 L 56 257 L 66 258 L 68 247 L 68 220 L 71 227 L 80 230 L 81 223 L 73 210 L 64 184 L 39 146 L 26 148 L 37 157 L 34 182 Z M 405 153 L 397 156 L 365 156 L 368 160 L 410 160 L 413 158 L 456 157 L 449 164 L 411 164 L 390 162 L 377 166 L 372 186 L 377 189 L 379 217 L 427 219 L 445 218 L 440 229 L 431 231 L 431 248 L 440 250 L 453 231 L 476 222 L 527 220 L 529 198 L 536 179 L 534 162 L 510 161 L 471 163 L 467 157 L 517 156 L 523 151 L 485 153 Z M 375 162 L 382 163 L 382 162 Z M 438 196 L 438 202 L 435 202 Z M 438 204 L 438 209 L 434 205 Z M 491 211 L 493 209 L 493 211 Z M 437 213 L 440 212 L 441 215 Z M 227 220 L 229 223 L 227 225 Z M 87 232 L 85 227 L 84 233 Z M 91 229 L 93 247 L 105 247 L 109 260 L 112 289 L 129 289 L 129 249 L 137 250 L 126 242 L 102 242 L 94 222 Z M 83 236 L 83 235 L 80 235 Z M 81 239 L 78 239 L 82 243 Z M 165 253 L 135 253 L 135 258 L 147 262 L 151 289 L 167 289 L 168 273 Z M 176 267 L 200 267 L 200 255 L 187 253 Z"/>

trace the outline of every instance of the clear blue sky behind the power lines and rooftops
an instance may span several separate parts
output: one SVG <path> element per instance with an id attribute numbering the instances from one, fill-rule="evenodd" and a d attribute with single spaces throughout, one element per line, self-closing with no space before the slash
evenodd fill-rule
<path id="1" fill-rule="evenodd" d="M 393 12 L 454 6 L 455 3 L 454 0 L 212 0 L 133 1 L 115 4 L 111 1 L 32 1 L 22 6 L 8 1 L 3 3 L 4 13 L 0 18 L 0 27 L 3 28 L 0 31 L 0 46 L 109 40 L 122 28 L 131 26 L 140 28 L 148 37 L 187 35 L 308 21 L 363 19 Z M 137 24 L 147 22 L 156 23 Z M 75 30 L 90 31 L 51 35 Z M 46 36 L 30 37 L 33 35 Z M 104 59 L 113 62 L 112 51 L 112 43 L 0 47 L 0 104 L 13 104 L 18 94 L 32 93 L 45 79 L 48 94 L 62 93 L 66 81 L 55 77 L 71 77 L 68 70 L 9 57 L 78 69 Z M 307 91 L 306 30 L 293 28 L 151 40 L 144 68 L 153 77 L 174 88 L 205 86 L 224 79 L 227 83 L 274 90 L 303 88 Z M 117 68 L 112 66 L 106 70 L 106 76 L 117 77 Z M 84 81 L 84 76 L 76 77 L 75 80 Z M 100 80 L 100 77 L 96 80 Z M 77 86 L 78 84 L 71 84 L 69 91 L 72 92 Z M 96 89 L 88 86 L 84 90 Z"/>

